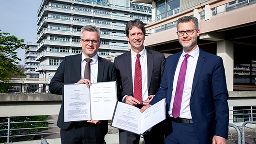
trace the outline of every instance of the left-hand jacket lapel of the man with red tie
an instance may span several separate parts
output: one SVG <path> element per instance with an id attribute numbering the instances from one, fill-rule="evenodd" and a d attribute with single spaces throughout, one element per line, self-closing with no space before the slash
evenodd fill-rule
<path id="1" fill-rule="evenodd" d="M 132 75 L 132 56 L 131 56 L 131 51 L 126 53 L 126 57 L 124 58 L 124 65 L 125 65 L 125 71 L 127 72 L 127 78 L 130 82 L 130 88 L 133 92 L 133 75 Z"/>

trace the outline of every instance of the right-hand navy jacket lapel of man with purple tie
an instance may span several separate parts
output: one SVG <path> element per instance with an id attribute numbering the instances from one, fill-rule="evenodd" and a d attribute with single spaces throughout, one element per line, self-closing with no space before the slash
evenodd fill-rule
<path id="1" fill-rule="evenodd" d="M 201 49 L 199 49 L 199 56 L 198 56 L 198 60 L 197 60 L 197 64 L 196 64 L 196 71 L 195 71 L 193 84 L 192 84 L 191 98 L 192 98 L 193 93 L 195 91 L 196 84 L 197 84 L 198 78 L 200 76 L 204 61 L 205 61 L 205 54 Z"/>

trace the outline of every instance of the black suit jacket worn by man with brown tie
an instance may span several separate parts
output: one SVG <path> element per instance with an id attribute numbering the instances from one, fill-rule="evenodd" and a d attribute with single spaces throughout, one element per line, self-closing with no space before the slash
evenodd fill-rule
<path id="1" fill-rule="evenodd" d="M 54 77 L 51 79 L 51 83 L 49 85 L 49 91 L 51 93 L 62 95 L 62 88 L 64 84 L 74 84 L 81 79 L 81 59 L 82 53 L 66 56 L 63 59 Z M 114 63 L 98 56 L 97 82 L 116 80 L 117 76 Z M 57 126 L 63 130 L 66 130 L 70 126 L 71 122 L 64 122 L 63 105 L 64 104 L 62 101 Z M 100 125 L 104 125 L 105 127 L 105 122 L 102 122 Z M 107 132 L 107 125 L 105 132 Z"/>

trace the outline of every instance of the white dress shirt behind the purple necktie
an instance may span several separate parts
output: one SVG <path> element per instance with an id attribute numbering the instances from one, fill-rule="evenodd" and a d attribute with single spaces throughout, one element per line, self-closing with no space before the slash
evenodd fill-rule
<path id="1" fill-rule="evenodd" d="M 181 70 L 181 63 L 183 62 L 185 58 L 186 52 L 182 49 L 182 54 L 179 59 L 174 79 L 173 79 L 173 90 L 171 95 L 171 104 L 170 104 L 170 110 L 169 115 L 172 117 L 172 107 L 173 107 L 173 101 L 175 97 L 176 87 L 177 87 L 177 81 L 179 77 L 179 73 Z M 190 112 L 190 97 L 192 92 L 192 85 L 193 85 L 193 79 L 196 71 L 196 64 L 199 56 L 199 47 L 197 46 L 196 49 L 192 52 L 188 53 L 190 56 L 188 57 L 188 64 L 187 64 L 187 70 L 186 70 L 186 76 L 185 76 L 185 82 L 184 82 L 184 89 L 182 94 L 182 101 L 181 101 L 181 114 L 180 118 L 187 118 L 191 119 L 191 112 Z"/>

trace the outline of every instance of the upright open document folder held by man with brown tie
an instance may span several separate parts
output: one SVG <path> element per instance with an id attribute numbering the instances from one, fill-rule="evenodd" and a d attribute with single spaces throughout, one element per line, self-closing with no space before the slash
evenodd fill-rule
<path id="1" fill-rule="evenodd" d="M 116 81 L 64 85 L 64 122 L 111 119 L 117 102 Z"/>

